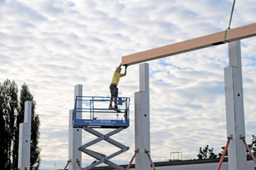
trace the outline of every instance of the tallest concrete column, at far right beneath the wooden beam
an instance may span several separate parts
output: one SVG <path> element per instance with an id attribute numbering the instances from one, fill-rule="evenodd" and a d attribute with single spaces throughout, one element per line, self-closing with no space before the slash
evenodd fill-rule
<path id="1" fill-rule="evenodd" d="M 229 43 L 229 59 L 230 67 L 224 68 L 227 135 L 232 136 L 228 148 L 229 169 L 246 170 L 246 148 L 240 139 L 245 136 L 240 41 Z"/>

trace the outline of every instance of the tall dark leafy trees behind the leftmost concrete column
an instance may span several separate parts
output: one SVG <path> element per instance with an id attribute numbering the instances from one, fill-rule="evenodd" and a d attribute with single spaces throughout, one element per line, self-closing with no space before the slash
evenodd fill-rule
<path id="1" fill-rule="evenodd" d="M 19 128 L 24 122 L 25 101 L 32 101 L 32 133 L 31 133 L 31 168 L 37 170 L 41 161 L 39 139 L 39 116 L 35 114 L 36 102 L 29 88 L 24 83 L 18 99 L 18 87 L 9 79 L 0 83 L 0 166 L 3 169 L 15 170 L 18 167 Z"/>

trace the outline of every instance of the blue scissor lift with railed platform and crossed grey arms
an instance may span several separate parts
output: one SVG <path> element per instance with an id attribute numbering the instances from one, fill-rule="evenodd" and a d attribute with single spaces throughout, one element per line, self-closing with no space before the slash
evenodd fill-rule
<path id="1" fill-rule="evenodd" d="M 85 154 L 96 158 L 97 161 L 94 161 L 90 166 L 83 168 L 84 170 L 96 167 L 101 163 L 106 163 L 110 167 L 119 170 L 125 170 L 124 167 L 109 161 L 114 156 L 129 150 L 128 146 L 120 144 L 116 140 L 110 138 L 110 136 L 121 132 L 125 128 L 130 126 L 129 119 L 129 106 L 130 98 L 128 97 L 119 97 L 118 106 L 119 112 L 114 110 L 107 109 L 109 105 L 110 97 L 99 97 L 99 96 L 77 96 L 75 100 L 74 110 L 73 110 L 73 127 L 81 127 L 88 133 L 96 135 L 97 139 L 90 141 L 87 144 L 83 144 L 79 147 L 80 151 L 83 151 Z M 78 106 L 78 103 L 82 103 L 82 107 Z M 82 113 L 84 119 L 78 119 L 77 114 Z M 115 128 L 112 132 L 107 134 L 102 134 L 96 131 L 94 128 Z M 106 156 L 102 153 L 88 150 L 87 147 L 96 144 L 102 140 L 107 141 L 110 144 L 118 147 L 120 150 L 113 153 L 110 156 Z"/>

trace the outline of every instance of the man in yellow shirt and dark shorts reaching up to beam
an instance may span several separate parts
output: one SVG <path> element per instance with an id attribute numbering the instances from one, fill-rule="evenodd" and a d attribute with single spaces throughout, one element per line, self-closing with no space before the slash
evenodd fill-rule
<path id="1" fill-rule="evenodd" d="M 126 76 L 126 69 L 127 69 L 127 65 L 125 65 L 125 73 L 124 74 L 121 74 L 121 66 L 122 64 L 120 64 L 116 70 L 113 72 L 113 78 L 112 78 L 112 82 L 109 86 L 109 89 L 110 89 L 110 94 L 111 94 L 111 97 L 116 97 L 116 98 L 111 98 L 110 101 L 109 101 L 109 107 L 108 109 L 111 109 L 111 110 L 117 110 L 118 109 L 118 106 L 117 106 L 117 97 L 119 96 L 119 88 L 117 88 L 118 84 L 119 84 L 119 78 L 120 77 L 125 77 Z M 112 103 L 114 102 L 114 107 L 112 106 Z"/>

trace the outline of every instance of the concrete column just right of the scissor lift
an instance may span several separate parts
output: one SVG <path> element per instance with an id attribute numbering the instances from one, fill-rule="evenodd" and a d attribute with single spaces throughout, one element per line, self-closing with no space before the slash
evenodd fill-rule
<path id="1" fill-rule="evenodd" d="M 149 77 L 148 64 L 139 65 L 140 91 L 135 93 L 135 148 L 136 170 L 148 170 L 150 161 L 145 150 L 150 151 L 150 124 L 149 124 Z M 150 152 L 149 152 L 150 153 Z"/>

